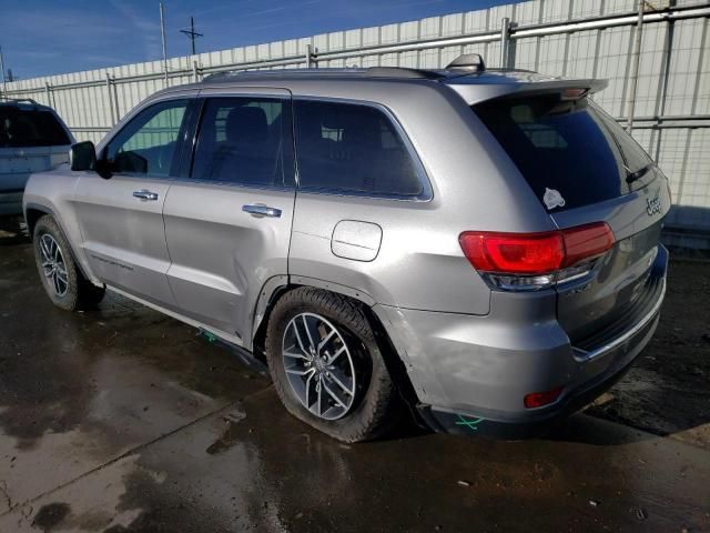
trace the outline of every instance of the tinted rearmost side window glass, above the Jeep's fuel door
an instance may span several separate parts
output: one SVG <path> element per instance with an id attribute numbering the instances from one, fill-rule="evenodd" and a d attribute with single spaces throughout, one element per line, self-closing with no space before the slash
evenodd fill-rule
<path id="1" fill-rule="evenodd" d="M 423 182 L 399 132 L 381 110 L 295 102 L 300 185 L 383 197 L 422 197 Z"/>

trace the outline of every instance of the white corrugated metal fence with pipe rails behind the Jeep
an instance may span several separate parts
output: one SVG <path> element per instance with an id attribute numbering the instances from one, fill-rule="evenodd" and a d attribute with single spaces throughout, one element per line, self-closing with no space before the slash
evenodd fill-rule
<path id="1" fill-rule="evenodd" d="M 225 70 L 440 68 L 478 52 L 493 67 L 606 78 L 608 89 L 595 99 L 623 122 L 632 105 L 635 138 L 670 178 L 676 243 L 708 248 L 709 17 L 710 3 L 698 0 L 649 0 L 642 24 L 636 0 L 532 0 L 173 58 L 166 71 L 152 61 L 21 80 L 8 83 L 7 94 L 49 103 L 78 139 L 98 141 L 152 92 Z"/>

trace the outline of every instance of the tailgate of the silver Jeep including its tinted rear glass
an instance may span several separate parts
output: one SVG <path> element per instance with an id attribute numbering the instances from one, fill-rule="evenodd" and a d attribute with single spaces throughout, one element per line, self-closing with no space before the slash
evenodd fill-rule
<path id="1" fill-rule="evenodd" d="M 582 274 L 558 279 L 558 321 L 574 345 L 653 306 L 639 302 L 656 290 L 649 273 L 670 207 L 667 180 L 648 154 L 576 93 L 556 88 L 471 107 L 558 229 L 606 223 L 613 233 L 613 247 Z"/>

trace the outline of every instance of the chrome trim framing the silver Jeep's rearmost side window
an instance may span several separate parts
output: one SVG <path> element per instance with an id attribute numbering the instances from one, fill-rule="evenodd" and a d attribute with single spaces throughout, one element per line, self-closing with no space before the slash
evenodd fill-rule
<path id="1" fill-rule="evenodd" d="M 326 102 L 326 103 L 344 103 L 348 105 L 363 105 L 376 109 L 381 111 L 394 125 L 395 131 L 399 135 L 399 139 L 405 145 L 412 162 L 416 169 L 417 179 L 419 180 L 419 184 L 422 185 L 422 193 L 418 195 L 407 195 L 407 194 L 371 194 L 366 192 L 356 192 L 356 191 L 344 191 L 342 189 L 331 189 L 331 188 L 316 188 L 316 187 L 303 187 L 301 185 L 301 172 L 298 169 L 298 140 L 296 139 L 296 105 L 298 101 L 308 101 L 308 102 Z M 338 97 L 314 97 L 314 95 L 297 95 L 293 97 L 293 129 L 294 129 L 294 140 L 295 140 L 295 159 L 296 159 L 296 188 L 298 192 L 310 193 L 310 194 L 323 194 L 323 195 L 333 195 L 333 197 L 355 197 L 355 198 L 367 198 L 374 200 L 396 200 L 396 201 L 405 201 L 405 202 L 430 202 L 434 200 L 434 188 L 432 187 L 432 181 L 429 175 L 419 158 L 419 154 L 414 148 L 409 135 L 403 128 L 403 125 L 397 120 L 395 113 L 387 108 L 386 105 L 374 102 L 371 100 L 355 100 L 351 98 L 338 98 Z"/>

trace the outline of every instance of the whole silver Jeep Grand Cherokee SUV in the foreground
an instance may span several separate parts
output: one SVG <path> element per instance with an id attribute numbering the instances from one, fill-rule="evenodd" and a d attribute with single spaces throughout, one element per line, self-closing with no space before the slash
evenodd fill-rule
<path id="1" fill-rule="evenodd" d="M 145 100 L 24 193 L 51 300 L 104 288 L 268 365 L 343 441 L 405 409 L 520 436 L 653 334 L 663 174 L 597 80 L 392 68 L 215 74 Z"/>

